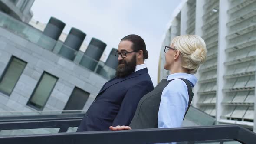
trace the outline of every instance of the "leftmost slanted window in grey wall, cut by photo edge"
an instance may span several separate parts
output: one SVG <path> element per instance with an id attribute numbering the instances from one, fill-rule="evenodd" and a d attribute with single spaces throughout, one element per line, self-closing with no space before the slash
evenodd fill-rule
<path id="1" fill-rule="evenodd" d="M 10 95 L 26 67 L 26 62 L 12 56 L 0 79 L 0 92 Z"/>

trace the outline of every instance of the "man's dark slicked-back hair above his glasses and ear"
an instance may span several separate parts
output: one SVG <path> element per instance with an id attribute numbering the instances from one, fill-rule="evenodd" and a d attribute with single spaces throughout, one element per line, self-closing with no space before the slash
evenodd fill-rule
<path id="1" fill-rule="evenodd" d="M 121 41 L 130 41 L 132 42 L 132 49 L 136 52 L 143 51 L 143 59 L 148 59 L 148 51 L 146 50 L 146 44 L 144 40 L 138 35 L 128 35 L 121 39 Z"/>

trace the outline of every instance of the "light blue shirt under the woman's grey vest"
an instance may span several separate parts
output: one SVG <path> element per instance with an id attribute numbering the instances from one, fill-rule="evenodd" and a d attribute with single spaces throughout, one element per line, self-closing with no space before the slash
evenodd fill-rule
<path id="1" fill-rule="evenodd" d="M 181 127 L 188 106 L 187 85 L 178 78 L 190 81 L 191 87 L 197 83 L 197 78 L 192 74 L 174 73 L 167 76 L 167 81 L 172 80 L 164 88 L 158 111 L 158 128 Z"/>

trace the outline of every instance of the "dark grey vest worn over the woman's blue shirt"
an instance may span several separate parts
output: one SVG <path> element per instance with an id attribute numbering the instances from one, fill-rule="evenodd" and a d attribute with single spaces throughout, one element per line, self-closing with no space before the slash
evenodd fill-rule
<path id="1" fill-rule="evenodd" d="M 187 107 L 188 111 L 194 93 L 192 92 L 190 82 L 187 79 L 181 80 L 183 80 L 187 85 L 187 91 L 189 96 Z M 167 81 L 166 79 L 162 79 L 161 82 L 154 88 L 153 91 L 149 92 L 141 98 L 141 100 L 138 103 L 135 115 L 130 124 L 130 127 L 132 129 L 158 128 L 158 110 L 160 106 L 161 95 L 164 88 L 168 85 L 170 81 L 171 80 Z M 187 111 L 185 115 L 187 114 Z"/>

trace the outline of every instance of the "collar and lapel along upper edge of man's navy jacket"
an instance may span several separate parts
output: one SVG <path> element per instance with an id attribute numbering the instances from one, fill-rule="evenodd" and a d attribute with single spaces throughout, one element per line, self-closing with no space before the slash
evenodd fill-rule
<path id="1" fill-rule="evenodd" d="M 122 82 L 122 81 L 124 81 L 124 80 L 126 80 L 126 79 L 131 79 L 131 78 L 133 78 L 133 77 L 142 75 L 142 74 L 144 74 L 144 73 L 146 73 L 146 72 L 148 72 L 148 69 L 147 69 L 147 68 L 144 68 L 144 69 L 138 70 L 138 71 L 136 71 L 136 72 L 133 72 L 131 75 L 128 75 L 127 77 L 119 78 L 119 79 L 115 79 L 115 78 L 114 78 L 114 79 L 110 80 L 109 82 L 105 83 L 105 86 L 102 87 L 102 89 L 101 89 L 101 91 L 98 93 L 98 95 L 101 94 L 103 91 L 105 91 L 105 89 L 109 88 L 110 86 L 112 86 L 112 85 L 114 85 L 114 84 L 116 84 L 116 83 L 118 83 L 118 82 Z"/>

